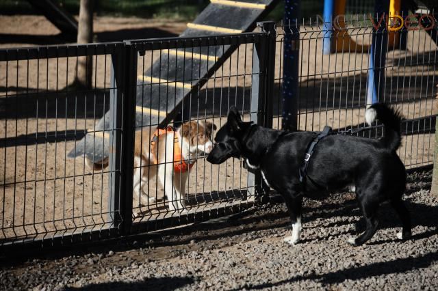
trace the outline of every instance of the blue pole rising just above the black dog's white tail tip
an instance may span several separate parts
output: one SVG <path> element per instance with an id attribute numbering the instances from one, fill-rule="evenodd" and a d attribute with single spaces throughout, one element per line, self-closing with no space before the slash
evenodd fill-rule
<path id="1" fill-rule="evenodd" d="M 373 29 L 370 58 L 368 61 L 367 105 L 383 100 L 385 90 L 385 62 L 388 44 L 388 30 L 386 17 L 389 14 L 389 0 L 376 0 L 374 25 L 381 24 Z"/>

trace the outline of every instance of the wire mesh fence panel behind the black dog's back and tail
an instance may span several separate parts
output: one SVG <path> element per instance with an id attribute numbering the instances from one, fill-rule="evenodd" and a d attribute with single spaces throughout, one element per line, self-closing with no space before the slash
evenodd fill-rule
<path id="1" fill-rule="evenodd" d="M 274 126 L 281 128 L 285 34 L 299 30 L 299 83 L 294 96 L 298 130 L 318 131 L 325 125 L 335 130 L 363 128 L 367 105 L 387 102 L 405 118 L 402 148 L 398 150 L 404 165 L 428 165 L 433 163 L 437 115 L 437 33 L 409 26 L 396 30 L 394 26 L 400 23 L 385 20 L 383 28 L 376 31 L 376 23 L 370 15 L 361 14 L 345 18 L 341 27 L 333 25 L 333 29 L 327 29 L 328 24 L 318 18 L 277 27 L 274 115 L 278 118 Z M 427 28 L 427 23 L 424 26 Z M 387 41 L 376 55 L 373 41 L 384 36 Z M 323 49 L 326 40 L 331 46 L 328 54 Z M 372 59 L 385 61 L 373 69 Z M 368 98 L 370 88 L 377 90 L 376 100 Z M 380 137 L 382 133 L 369 130 L 361 135 Z"/>

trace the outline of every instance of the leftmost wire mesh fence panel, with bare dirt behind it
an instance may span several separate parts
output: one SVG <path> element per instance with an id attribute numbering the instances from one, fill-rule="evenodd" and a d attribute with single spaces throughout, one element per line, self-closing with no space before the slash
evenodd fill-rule
<path id="1" fill-rule="evenodd" d="M 109 227 L 108 180 L 83 155 L 69 158 L 77 139 L 96 139 L 96 120 L 110 107 L 115 44 L 1 51 L 1 242 L 49 239 Z M 76 66 L 92 61 L 91 83 Z M 110 130 L 110 128 L 107 128 Z M 97 144 L 97 143 L 96 143 Z M 114 213 L 112 213 L 114 215 Z"/>

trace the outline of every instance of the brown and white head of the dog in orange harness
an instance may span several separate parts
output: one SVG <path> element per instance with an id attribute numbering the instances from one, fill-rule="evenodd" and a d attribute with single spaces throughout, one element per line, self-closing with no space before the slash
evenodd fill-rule
<path id="1" fill-rule="evenodd" d="M 184 139 L 183 144 L 188 144 L 190 153 L 205 152 L 209 154 L 213 149 L 213 130 L 216 125 L 204 120 L 185 122 L 181 126 L 181 137 Z M 183 145 L 184 146 L 184 145 Z"/>

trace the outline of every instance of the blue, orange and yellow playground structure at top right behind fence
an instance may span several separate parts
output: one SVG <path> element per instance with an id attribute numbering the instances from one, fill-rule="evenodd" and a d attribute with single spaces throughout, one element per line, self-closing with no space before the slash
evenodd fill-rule
<path id="1" fill-rule="evenodd" d="M 435 6 L 432 3 L 432 8 L 426 10 L 433 12 Z M 436 4 L 435 4 L 436 5 Z M 355 40 L 348 35 L 346 31 L 345 11 L 346 0 L 324 1 L 324 54 L 337 52 L 369 52 L 368 66 L 368 88 L 367 88 L 367 104 L 378 102 L 383 94 L 382 81 L 385 77 L 384 67 L 386 61 L 386 53 L 390 49 L 405 49 L 407 40 L 407 31 L 398 29 L 403 27 L 403 18 L 408 15 L 408 10 L 415 11 L 419 5 L 415 1 L 408 0 L 376 0 L 374 13 L 372 15 L 374 23 L 381 22 L 383 25 L 374 27 L 372 44 L 357 44 Z M 423 7 L 425 8 L 425 7 Z M 413 14 L 420 21 L 421 15 Z M 332 31 L 333 33 L 329 33 Z M 434 27 L 427 31 L 431 38 L 436 42 L 437 29 Z"/>

